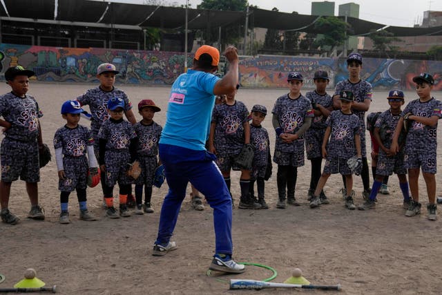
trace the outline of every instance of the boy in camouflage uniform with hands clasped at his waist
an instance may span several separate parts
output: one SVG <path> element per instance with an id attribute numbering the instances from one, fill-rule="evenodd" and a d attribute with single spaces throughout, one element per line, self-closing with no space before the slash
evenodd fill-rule
<path id="1" fill-rule="evenodd" d="M 273 128 L 276 131 L 273 162 L 278 164 L 278 203 L 277 208 L 285 209 L 286 186 L 287 202 L 299 206 L 295 198 L 298 167 L 304 166 L 304 136 L 314 117 L 311 102 L 300 93 L 302 75 L 289 73 L 287 77 L 290 93 L 276 99 L 273 106 Z"/>

